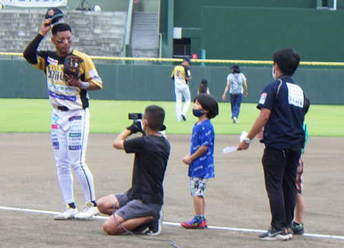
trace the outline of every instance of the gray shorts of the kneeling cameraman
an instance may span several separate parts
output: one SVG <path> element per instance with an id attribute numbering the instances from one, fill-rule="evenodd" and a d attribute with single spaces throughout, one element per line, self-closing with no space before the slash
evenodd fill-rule
<path id="1" fill-rule="evenodd" d="M 142 200 L 129 200 L 127 194 L 115 194 L 120 208 L 115 212 L 125 220 L 155 216 L 161 209 L 159 204 L 144 204 Z"/>

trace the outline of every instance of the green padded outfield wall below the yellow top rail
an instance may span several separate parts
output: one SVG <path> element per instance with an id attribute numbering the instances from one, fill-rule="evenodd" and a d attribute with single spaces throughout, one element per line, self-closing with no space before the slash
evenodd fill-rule
<path id="1" fill-rule="evenodd" d="M 96 63 L 103 79 L 103 90 L 89 92 L 92 99 L 174 101 L 171 80 L 173 65 L 120 65 Z M 272 81 L 271 66 L 244 66 L 248 82 L 244 102 L 256 103 L 264 85 Z M 207 79 L 211 94 L 222 101 L 228 66 L 191 65 L 191 96 L 195 97 L 202 79 Z M 343 105 L 344 68 L 299 68 L 294 79 L 312 104 Z M 0 98 L 46 99 L 43 71 L 26 61 L 0 60 Z"/>

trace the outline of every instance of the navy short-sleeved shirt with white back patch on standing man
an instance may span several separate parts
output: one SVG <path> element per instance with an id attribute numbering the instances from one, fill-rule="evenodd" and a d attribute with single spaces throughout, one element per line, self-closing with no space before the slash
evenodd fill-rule
<path id="1" fill-rule="evenodd" d="M 264 87 L 257 108 L 271 110 L 264 126 L 266 147 L 286 149 L 301 145 L 303 132 L 303 90 L 290 76 L 281 76 Z"/>

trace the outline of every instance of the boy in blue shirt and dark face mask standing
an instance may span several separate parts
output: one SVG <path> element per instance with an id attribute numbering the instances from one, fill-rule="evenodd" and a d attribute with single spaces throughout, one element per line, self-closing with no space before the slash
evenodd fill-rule
<path id="1" fill-rule="evenodd" d="M 216 99 L 209 94 L 199 94 L 194 99 L 193 115 L 198 117 L 193 126 L 190 153 L 182 159 L 189 165 L 190 192 L 193 196 L 195 217 L 180 223 L 187 229 L 204 229 L 207 227 L 204 212 L 206 209 L 206 182 L 214 174 L 215 133 L 210 119 L 217 116 L 219 106 Z"/>

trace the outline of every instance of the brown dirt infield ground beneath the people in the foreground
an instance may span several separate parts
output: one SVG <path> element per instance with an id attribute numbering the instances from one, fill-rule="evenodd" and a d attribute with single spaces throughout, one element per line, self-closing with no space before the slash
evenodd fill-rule
<path id="1" fill-rule="evenodd" d="M 131 185 L 133 155 L 112 148 L 115 137 L 89 135 L 87 164 L 97 198 L 125 192 Z M 143 240 L 107 236 L 101 229 L 103 218 L 53 220 L 52 212 L 63 209 L 63 200 L 50 134 L 0 133 L 0 247 L 171 247 L 169 240 L 184 248 L 276 247 L 276 242 L 257 238 L 270 223 L 261 168 L 263 145 L 254 140 L 247 151 L 222 154 L 222 148 L 237 145 L 238 136 L 215 137 L 215 178 L 209 180 L 206 192 L 206 218 L 212 228 L 186 230 L 178 223 L 193 216 L 187 166 L 181 163 L 189 152 L 190 136 L 167 138 L 171 156 L 164 180 L 163 230 L 153 240 Z M 309 138 L 303 156 L 308 236 L 294 236 L 283 247 L 344 247 L 343 148 L 344 138 Z M 74 194 L 80 210 L 84 200 L 76 179 Z"/>

